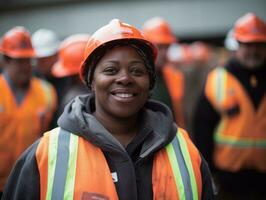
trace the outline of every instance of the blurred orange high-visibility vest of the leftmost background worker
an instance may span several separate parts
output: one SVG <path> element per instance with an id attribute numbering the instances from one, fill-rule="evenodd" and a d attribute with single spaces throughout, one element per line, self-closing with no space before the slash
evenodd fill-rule
<path id="1" fill-rule="evenodd" d="M 52 86 L 32 78 L 26 95 L 17 105 L 13 92 L 0 76 L 0 191 L 13 164 L 48 127 L 56 107 L 56 94 Z"/>

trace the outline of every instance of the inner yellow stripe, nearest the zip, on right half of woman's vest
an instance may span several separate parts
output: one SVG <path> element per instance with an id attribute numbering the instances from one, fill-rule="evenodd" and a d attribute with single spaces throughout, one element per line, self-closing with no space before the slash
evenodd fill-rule
<path id="1" fill-rule="evenodd" d="M 184 189 L 184 184 L 183 184 L 181 172 L 179 169 L 179 165 L 177 162 L 177 158 L 175 155 L 175 150 L 174 150 L 172 143 L 166 146 L 166 152 L 169 157 L 169 161 L 172 167 L 172 172 L 174 174 L 175 183 L 176 183 L 177 191 L 179 194 L 179 199 L 181 200 L 185 198 L 185 189 Z"/>

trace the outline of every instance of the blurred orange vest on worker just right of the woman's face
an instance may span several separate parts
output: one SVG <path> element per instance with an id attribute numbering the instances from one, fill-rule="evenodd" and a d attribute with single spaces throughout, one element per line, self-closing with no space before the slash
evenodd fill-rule
<path id="1" fill-rule="evenodd" d="M 173 112 L 176 123 L 184 127 L 184 112 L 183 112 L 183 98 L 184 98 L 184 75 L 180 70 L 174 69 L 174 66 L 168 64 L 162 68 L 162 73 L 168 88 Z"/>

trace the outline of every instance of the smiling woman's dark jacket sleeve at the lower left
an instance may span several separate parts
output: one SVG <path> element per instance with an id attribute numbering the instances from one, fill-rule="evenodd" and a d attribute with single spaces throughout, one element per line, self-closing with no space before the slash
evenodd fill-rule
<path id="1" fill-rule="evenodd" d="M 5 185 L 2 200 L 40 199 L 40 176 L 35 152 L 39 140 L 17 160 Z"/>

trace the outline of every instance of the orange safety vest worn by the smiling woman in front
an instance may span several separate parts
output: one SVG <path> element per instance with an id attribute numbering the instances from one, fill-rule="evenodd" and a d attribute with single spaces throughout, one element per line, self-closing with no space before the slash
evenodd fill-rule
<path id="1" fill-rule="evenodd" d="M 82 137 L 53 129 L 40 140 L 36 160 L 41 200 L 118 199 L 103 152 Z M 153 162 L 154 199 L 201 199 L 201 158 L 187 133 L 180 130 Z"/>

